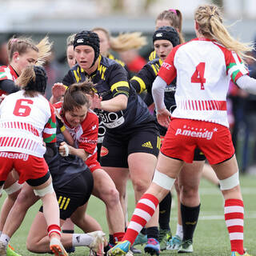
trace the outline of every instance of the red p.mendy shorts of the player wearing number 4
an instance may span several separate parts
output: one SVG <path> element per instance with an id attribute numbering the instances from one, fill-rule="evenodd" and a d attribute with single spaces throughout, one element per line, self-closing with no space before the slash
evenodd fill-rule
<path id="1" fill-rule="evenodd" d="M 202 150 L 211 165 L 234 155 L 230 130 L 226 126 L 214 122 L 173 118 L 162 143 L 162 154 L 193 162 L 196 147 Z"/>

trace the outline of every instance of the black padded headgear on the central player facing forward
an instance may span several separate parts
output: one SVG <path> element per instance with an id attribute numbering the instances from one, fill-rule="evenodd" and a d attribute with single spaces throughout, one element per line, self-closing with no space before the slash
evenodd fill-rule
<path id="1" fill-rule="evenodd" d="M 94 62 L 90 66 L 94 66 L 99 56 L 99 38 L 98 34 L 92 31 L 82 31 L 74 37 L 74 48 L 76 46 L 91 46 L 94 49 Z"/>

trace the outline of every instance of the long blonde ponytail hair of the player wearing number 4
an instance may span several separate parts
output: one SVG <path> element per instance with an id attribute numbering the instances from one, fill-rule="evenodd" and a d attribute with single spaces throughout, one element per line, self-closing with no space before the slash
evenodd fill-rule
<path id="1" fill-rule="evenodd" d="M 215 39 L 228 50 L 234 50 L 242 59 L 252 58 L 246 52 L 254 49 L 252 43 L 239 42 L 234 39 L 226 26 L 222 23 L 222 16 L 218 6 L 202 5 L 194 12 L 194 19 L 198 23 L 198 32 L 206 38 Z"/>

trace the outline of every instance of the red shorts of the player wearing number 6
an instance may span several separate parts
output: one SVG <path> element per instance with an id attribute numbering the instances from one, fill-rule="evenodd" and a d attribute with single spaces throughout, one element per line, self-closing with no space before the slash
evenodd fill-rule
<path id="1" fill-rule="evenodd" d="M 49 170 L 45 158 L 18 152 L 0 152 L 0 181 L 6 181 L 12 169 L 18 172 L 18 183 L 45 176 Z"/>

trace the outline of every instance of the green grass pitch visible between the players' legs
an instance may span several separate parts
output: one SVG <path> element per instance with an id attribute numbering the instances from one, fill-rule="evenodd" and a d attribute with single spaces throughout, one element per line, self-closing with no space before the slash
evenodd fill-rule
<path id="1" fill-rule="evenodd" d="M 256 226 L 256 176 L 241 176 L 242 194 L 245 203 L 245 247 L 252 255 L 256 255 L 255 249 L 255 226 Z M 129 218 L 134 210 L 134 194 L 131 185 L 129 184 Z M 230 242 L 226 230 L 226 225 L 223 218 L 223 199 L 220 191 L 217 187 L 211 185 L 202 179 L 200 185 L 201 195 L 201 212 L 199 216 L 198 226 L 194 234 L 194 255 L 213 255 L 224 256 L 230 255 Z M 3 198 L 1 198 L 1 203 Z M 173 233 L 176 231 L 177 221 L 177 204 L 176 195 L 174 194 L 174 207 L 171 212 L 171 230 Z M 38 211 L 40 202 L 34 205 L 27 213 L 25 221 L 21 228 L 11 238 L 10 244 L 14 246 L 15 250 L 19 254 L 24 255 L 36 255 L 31 254 L 26 250 L 26 235 L 30 229 L 30 223 L 32 222 L 35 213 Z M 103 230 L 108 232 L 106 226 L 105 209 L 103 203 L 97 198 L 90 198 L 88 214 L 93 216 L 102 225 Z M 76 232 L 82 232 L 78 228 Z M 142 247 L 138 246 L 142 249 Z M 88 255 L 89 250 L 84 247 L 77 247 L 76 252 L 71 255 Z M 164 251 L 161 255 L 176 255 L 177 252 Z M 50 255 L 50 254 L 41 254 Z M 179 254 L 181 255 L 181 254 Z"/>

